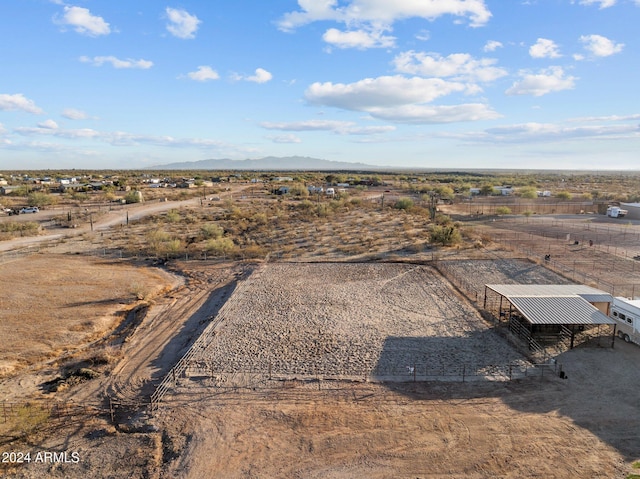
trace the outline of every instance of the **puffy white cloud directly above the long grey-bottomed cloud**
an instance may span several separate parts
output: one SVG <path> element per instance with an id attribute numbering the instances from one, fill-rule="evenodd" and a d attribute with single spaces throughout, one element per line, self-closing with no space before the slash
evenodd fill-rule
<path id="1" fill-rule="evenodd" d="M 496 61 L 490 58 L 476 60 L 467 53 L 453 53 L 442 57 L 435 53 L 412 50 L 400 53 L 393 59 L 396 70 L 401 73 L 481 82 L 490 82 L 507 75 L 506 70 L 494 66 Z"/>

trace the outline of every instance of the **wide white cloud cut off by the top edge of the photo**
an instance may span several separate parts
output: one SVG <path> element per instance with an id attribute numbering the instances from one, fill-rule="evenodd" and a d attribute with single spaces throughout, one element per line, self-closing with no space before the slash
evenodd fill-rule
<path id="1" fill-rule="evenodd" d="M 300 10 L 287 13 L 278 22 L 281 30 L 291 31 L 315 21 L 333 20 L 347 25 L 392 25 L 397 20 L 424 18 L 435 20 L 443 15 L 468 18 L 471 26 L 486 24 L 491 12 L 483 0 L 298 0 Z"/>

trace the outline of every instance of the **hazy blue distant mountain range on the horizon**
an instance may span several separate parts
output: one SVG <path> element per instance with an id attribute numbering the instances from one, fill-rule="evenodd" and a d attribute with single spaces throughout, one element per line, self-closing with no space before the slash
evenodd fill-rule
<path id="1" fill-rule="evenodd" d="M 346 161 L 330 161 L 308 156 L 267 156 L 253 160 L 200 160 L 169 163 L 147 168 L 148 170 L 274 170 L 274 171 L 340 171 L 380 170 L 380 166 Z"/>

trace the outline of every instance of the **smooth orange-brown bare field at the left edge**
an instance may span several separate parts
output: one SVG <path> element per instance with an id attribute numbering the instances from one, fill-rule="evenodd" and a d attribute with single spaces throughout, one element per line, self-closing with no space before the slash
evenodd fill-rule
<path id="1" fill-rule="evenodd" d="M 103 338 L 140 300 L 179 283 L 160 269 L 81 256 L 0 264 L 0 377 Z"/>

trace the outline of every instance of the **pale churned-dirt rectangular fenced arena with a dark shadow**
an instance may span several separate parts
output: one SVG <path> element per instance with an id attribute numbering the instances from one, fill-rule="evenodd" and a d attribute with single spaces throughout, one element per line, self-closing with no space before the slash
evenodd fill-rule
<path id="1" fill-rule="evenodd" d="M 192 375 L 406 381 L 528 365 L 429 266 L 263 265 L 221 314 Z"/>

